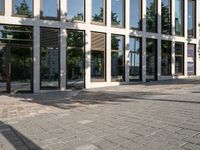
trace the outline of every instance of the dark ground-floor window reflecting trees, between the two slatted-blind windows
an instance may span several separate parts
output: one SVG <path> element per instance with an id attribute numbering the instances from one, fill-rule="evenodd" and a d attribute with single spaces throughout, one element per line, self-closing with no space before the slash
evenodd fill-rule
<path id="1" fill-rule="evenodd" d="M 84 86 L 84 32 L 67 31 L 67 86 Z"/>

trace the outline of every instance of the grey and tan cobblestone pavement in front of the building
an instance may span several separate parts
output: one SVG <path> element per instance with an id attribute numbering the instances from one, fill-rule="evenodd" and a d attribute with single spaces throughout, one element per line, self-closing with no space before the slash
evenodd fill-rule
<path id="1" fill-rule="evenodd" d="M 0 150 L 200 150 L 200 79 L 0 95 Z"/>

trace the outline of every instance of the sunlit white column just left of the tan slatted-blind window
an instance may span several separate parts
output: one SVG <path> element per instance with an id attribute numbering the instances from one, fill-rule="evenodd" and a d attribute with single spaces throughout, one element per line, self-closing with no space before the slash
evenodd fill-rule
<path id="1" fill-rule="evenodd" d="M 85 31 L 85 88 L 90 88 L 91 82 L 91 32 Z"/>

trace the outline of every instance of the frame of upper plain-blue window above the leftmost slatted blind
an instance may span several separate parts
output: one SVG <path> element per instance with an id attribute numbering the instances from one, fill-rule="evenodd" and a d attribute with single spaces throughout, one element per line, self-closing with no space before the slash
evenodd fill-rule
<path id="1" fill-rule="evenodd" d="M 43 20 L 55 20 L 55 21 L 60 21 L 60 0 L 57 1 L 57 16 L 56 17 L 51 17 L 51 16 L 43 16 L 43 0 L 40 0 L 40 19 Z"/>

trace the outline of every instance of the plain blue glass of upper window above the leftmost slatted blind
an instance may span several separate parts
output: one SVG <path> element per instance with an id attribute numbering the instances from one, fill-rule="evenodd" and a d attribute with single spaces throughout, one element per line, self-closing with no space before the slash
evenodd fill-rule
<path id="1" fill-rule="evenodd" d="M 42 0 L 42 16 L 58 17 L 58 0 Z"/>

